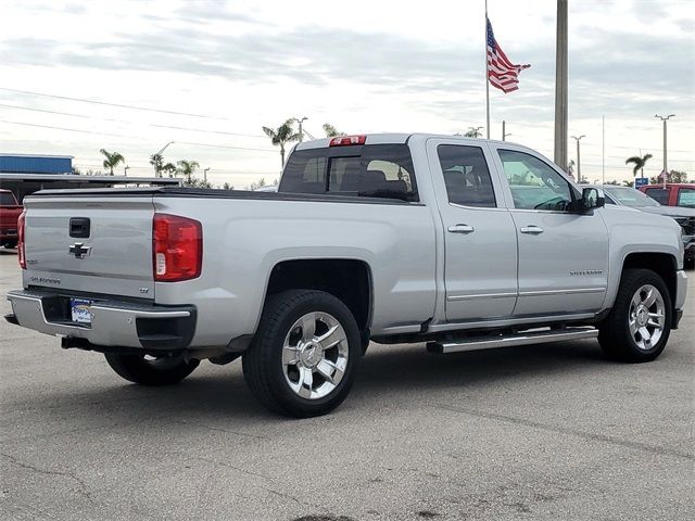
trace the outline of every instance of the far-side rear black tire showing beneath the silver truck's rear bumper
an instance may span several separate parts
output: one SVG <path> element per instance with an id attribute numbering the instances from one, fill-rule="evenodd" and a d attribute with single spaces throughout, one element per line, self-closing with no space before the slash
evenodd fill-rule
<path id="1" fill-rule="evenodd" d="M 144 355 L 105 353 L 106 361 L 116 374 L 141 385 L 170 385 L 188 377 L 200 360 L 186 361 L 182 355 L 148 359 Z"/>

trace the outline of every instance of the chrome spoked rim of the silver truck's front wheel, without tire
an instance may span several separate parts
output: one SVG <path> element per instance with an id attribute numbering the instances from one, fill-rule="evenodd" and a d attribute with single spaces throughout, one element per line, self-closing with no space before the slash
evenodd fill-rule
<path id="1" fill-rule="evenodd" d="M 659 290 L 641 287 L 630 301 L 628 326 L 639 348 L 649 351 L 659 343 L 666 323 L 666 305 Z"/>

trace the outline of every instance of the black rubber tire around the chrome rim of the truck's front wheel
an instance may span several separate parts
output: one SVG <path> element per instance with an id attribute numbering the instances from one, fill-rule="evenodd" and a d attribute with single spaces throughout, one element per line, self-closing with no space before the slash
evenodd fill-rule
<path id="1" fill-rule="evenodd" d="M 664 327 L 659 340 L 648 348 L 639 345 L 640 334 L 630 331 L 630 307 L 633 296 L 644 285 L 658 290 L 664 301 Z M 620 279 L 620 288 L 612 309 L 598 326 L 598 342 L 604 354 L 614 360 L 640 364 L 652 361 L 658 357 L 671 333 L 673 305 L 666 283 L 657 274 L 649 269 L 626 269 Z"/>

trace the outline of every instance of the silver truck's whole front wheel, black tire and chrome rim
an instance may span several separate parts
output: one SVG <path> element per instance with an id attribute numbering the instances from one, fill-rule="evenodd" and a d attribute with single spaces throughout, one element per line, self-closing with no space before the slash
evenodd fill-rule
<path id="1" fill-rule="evenodd" d="M 620 361 L 654 360 L 668 342 L 672 309 L 661 277 L 648 269 L 626 269 L 612 309 L 598 328 L 601 347 Z"/>

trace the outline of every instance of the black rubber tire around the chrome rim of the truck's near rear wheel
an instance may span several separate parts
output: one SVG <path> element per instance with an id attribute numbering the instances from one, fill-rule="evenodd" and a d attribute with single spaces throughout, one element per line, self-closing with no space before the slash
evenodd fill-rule
<path id="1" fill-rule="evenodd" d="M 313 313 L 328 314 L 342 327 L 344 340 L 340 343 L 340 350 L 342 356 L 346 355 L 346 366 L 342 379 L 332 391 L 325 396 L 307 398 L 300 396 L 299 391 L 293 391 L 288 382 L 286 371 L 290 369 L 283 366 L 282 353 L 286 339 L 291 338 L 292 331 L 298 331 L 298 320 Z M 323 291 L 289 290 L 270 296 L 266 302 L 258 330 L 251 346 L 243 354 L 242 365 L 247 384 L 261 404 L 285 416 L 308 418 L 325 415 L 345 399 L 352 387 L 361 355 L 362 340 L 357 322 L 339 298 Z M 300 364 L 296 363 L 298 371 L 299 367 Z M 314 378 L 316 376 L 312 382 L 321 383 L 320 376 L 317 380 Z M 326 382 L 328 381 L 323 383 Z M 302 383 L 299 385 L 301 387 Z M 313 383 L 309 383 L 309 391 Z"/>

